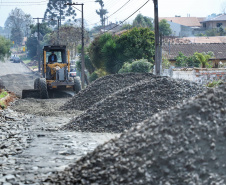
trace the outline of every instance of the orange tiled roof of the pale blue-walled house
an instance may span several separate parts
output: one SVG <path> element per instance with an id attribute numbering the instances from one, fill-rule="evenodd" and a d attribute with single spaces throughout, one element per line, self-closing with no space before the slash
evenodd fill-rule
<path id="1" fill-rule="evenodd" d="M 171 21 L 177 24 L 181 24 L 189 27 L 201 27 L 201 21 L 203 21 L 204 17 L 160 17 L 159 21 L 162 19 L 166 19 L 167 21 Z"/>

